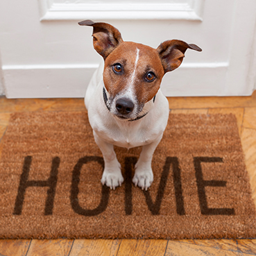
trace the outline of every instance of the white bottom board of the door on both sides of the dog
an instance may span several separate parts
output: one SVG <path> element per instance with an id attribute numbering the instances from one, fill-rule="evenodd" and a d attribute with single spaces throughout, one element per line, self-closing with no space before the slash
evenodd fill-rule
<path id="1" fill-rule="evenodd" d="M 3 66 L 6 96 L 8 98 L 80 98 L 94 70 L 89 65 L 6 65 Z M 228 62 L 182 63 L 167 73 L 162 80 L 166 96 L 237 96 L 241 86 L 225 85 Z M 240 88 L 240 89 L 239 89 Z"/>

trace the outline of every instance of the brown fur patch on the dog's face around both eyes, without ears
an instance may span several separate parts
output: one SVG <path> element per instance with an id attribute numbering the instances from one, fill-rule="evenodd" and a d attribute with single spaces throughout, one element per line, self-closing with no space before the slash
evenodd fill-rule
<path id="1" fill-rule="evenodd" d="M 120 72 L 113 69 L 117 64 L 121 65 Z M 112 97 L 125 91 L 130 83 L 133 83 L 137 101 L 144 104 L 153 99 L 160 88 L 163 76 L 164 69 L 157 51 L 144 44 L 122 42 L 105 59 L 103 81 Z"/>

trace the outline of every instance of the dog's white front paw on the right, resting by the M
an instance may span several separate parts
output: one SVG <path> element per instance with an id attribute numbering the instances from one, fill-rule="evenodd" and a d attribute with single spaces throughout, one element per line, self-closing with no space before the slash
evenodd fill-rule
<path id="1" fill-rule="evenodd" d="M 139 171 L 139 169 L 135 170 L 135 176 L 133 177 L 133 183 L 135 187 L 139 186 L 142 189 L 148 190 L 148 187 L 151 186 L 153 182 L 153 171 L 151 168 Z"/>

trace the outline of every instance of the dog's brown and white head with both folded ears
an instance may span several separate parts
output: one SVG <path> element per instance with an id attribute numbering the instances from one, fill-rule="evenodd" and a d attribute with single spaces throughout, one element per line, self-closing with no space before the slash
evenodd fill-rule
<path id="1" fill-rule="evenodd" d="M 135 42 L 123 42 L 121 33 L 110 24 L 79 22 L 93 26 L 94 49 L 105 60 L 103 82 L 105 103 L 121 119 L 137 119 L 151 101 L 168 71 L 180 66 L 187 49 L 202 51 L 195 44 L 165 41 L 157 49 Z"/>

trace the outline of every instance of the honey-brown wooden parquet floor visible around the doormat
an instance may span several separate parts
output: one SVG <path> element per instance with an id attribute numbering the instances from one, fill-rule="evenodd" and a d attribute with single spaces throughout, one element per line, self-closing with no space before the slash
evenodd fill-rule
<path id="1" fill-rule="evenodd" d="M 256 93 L 248 97 L 169 98 L 173 113 L 234 113 L 256 203 Z M 80 111 L 83 99 L 6 99 L 0 97 L 1 138 L 12 112 Z M 0 256 L 19 255 L 256 255 L 256 239 L 135 240 L 56 239 L 0 240 Z"/>

